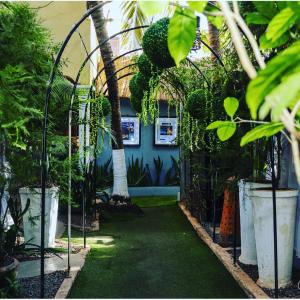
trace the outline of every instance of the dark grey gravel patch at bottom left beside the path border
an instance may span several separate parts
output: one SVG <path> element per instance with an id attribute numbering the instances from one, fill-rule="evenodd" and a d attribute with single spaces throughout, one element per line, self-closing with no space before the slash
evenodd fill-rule
<path id="1" fill-rule="evenodd" d="M 65 271 L 45 274 L 45 298 L 54 298 L 63 280 L 67 276 Z M 40 298 L 40 276 L 18 279 L 20 285 L 19 298 Z"/>

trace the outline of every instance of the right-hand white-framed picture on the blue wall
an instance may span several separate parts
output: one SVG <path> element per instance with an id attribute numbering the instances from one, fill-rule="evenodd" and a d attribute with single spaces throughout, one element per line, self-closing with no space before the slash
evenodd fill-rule
<path id="1" fill-rule="evenodd" d="M 157 118 L 154 144 L 157 146 L 176 146 L 177 127 L 177 118 Z"/>

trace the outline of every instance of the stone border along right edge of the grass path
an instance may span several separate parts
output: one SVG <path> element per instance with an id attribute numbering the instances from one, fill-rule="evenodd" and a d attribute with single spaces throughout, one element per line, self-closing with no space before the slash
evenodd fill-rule
<path id="1" fill-rule="evenodd" d="M 231 255 L 220 245 L 213 242 L 210 235 L 194 218 L 186 206 L 181 202 L 178 204 L 189 222 L 194 227 L 198 236 L 213 251 L 218 259 L 223 263 L 228 272 L 236 280 L 239 286 L 250 298 L 270 299 L 270 297 L 246 274 L 238 265 L 234 265 Z"/>

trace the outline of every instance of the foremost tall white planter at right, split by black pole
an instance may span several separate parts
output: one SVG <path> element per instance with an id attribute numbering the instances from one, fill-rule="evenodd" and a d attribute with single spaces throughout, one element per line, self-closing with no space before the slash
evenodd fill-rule
<path id="1" fill-rule="evenodd" d="M 274 288 L 273 198 L 271 189 L 252 190 L 258 284 Z M 278 286 L 290 284 L 298 190 L 276 190 Z"/>

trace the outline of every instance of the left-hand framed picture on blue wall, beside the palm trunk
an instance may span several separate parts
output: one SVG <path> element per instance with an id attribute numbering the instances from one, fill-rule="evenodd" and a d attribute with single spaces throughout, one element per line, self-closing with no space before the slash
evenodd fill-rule
<path id="1" fill-rule="evenodd" d="M 124 145 L 139 146 L 140 120 L 137 117 L 122 117 L 121 125 Z"/>

